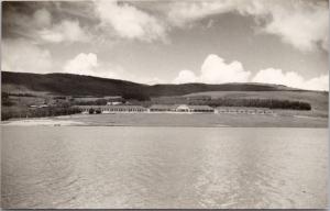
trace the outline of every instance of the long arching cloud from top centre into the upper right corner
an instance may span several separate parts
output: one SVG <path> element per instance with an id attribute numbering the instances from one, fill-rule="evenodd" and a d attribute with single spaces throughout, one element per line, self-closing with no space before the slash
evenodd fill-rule
<path id="1" fill-rule="evenodd" d="M 175 26 L 186 26 L 213 14 L 237 12 L 251 15 L 257 32 L 274 34 L 302 51 L 328 51 L 329 9 L 327 1 L 221 0 L 174 2 L 167 12 Z"/>

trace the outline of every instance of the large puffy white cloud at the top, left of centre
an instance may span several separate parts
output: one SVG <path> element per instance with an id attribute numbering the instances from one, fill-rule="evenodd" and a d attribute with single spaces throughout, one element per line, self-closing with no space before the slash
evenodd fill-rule
<path id="1" fill-rule="evenodd" d="M 114 30 L 120 37 L 151 42 L 166 36 L 158 19 L 127 2 L 97 0 L 94 3 L 101 27 Z"/>

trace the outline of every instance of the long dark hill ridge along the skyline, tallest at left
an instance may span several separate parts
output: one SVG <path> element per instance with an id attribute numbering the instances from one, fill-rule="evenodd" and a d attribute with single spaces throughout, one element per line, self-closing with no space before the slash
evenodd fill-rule
<path id="1" fill-rule="evenodd" d="M 265 84 L 185 84 L 185 85 L 142 85 L 125 80 L 98 78 L 72 74 L 26 74 L 1 73 L 1 85 L 6 89 L 19 88 L 26 91 L 42 91 L 65 96 L 123 96 L 147 97 L 183 96 L 202 91 L 280 91 L 296 90 L 285 86 Z M 11 91 L 11 90 L 9 90 Z"/>

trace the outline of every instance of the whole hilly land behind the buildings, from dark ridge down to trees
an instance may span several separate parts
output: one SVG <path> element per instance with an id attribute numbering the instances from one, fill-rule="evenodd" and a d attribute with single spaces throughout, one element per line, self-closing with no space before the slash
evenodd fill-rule
<path id="1" fill-rule="evenodd" d="M 265 84 L 142 85 L 125 80 L 70 74 L 2 73 L 2 120 L 22 116 L 70 114 L 75 104 L 106 104 L 105 97 L 123 102 L 152 104 L 207 104 L 210 107 L 260 107 L 294 111 L 290 115 L 328 118 L 328 92 Z M 84 100 L 80 100 L 84 99 Z M 46 109 L 31 109 L 47 104 Z M 298 111 L 300 110 L 300 111 Z M 302 112 L 307 111 L 307 112 Z"/>

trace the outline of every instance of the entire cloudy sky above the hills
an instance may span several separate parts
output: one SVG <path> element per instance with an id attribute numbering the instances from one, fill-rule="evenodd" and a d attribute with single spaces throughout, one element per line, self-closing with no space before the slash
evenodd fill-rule
<path id="1" fill-rule="evenodd" d="M 7 71 L 329 90 L 329 2 L 2 2 L 1 53 Z"/>

